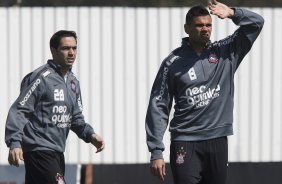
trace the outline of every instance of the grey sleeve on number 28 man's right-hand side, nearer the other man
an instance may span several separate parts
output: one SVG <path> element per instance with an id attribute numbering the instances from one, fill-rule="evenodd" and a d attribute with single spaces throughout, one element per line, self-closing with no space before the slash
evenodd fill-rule
<path id="1" fill-rule="evenodd" d="M 78 82 L 78 81 L 77 81 Z M 83 106 L 81 99 L 80 85 L 78 82 L 78 89 L 76 94 L 76 103 L 73 111 L 73 119 L 71 123 L 71 130 L 76 133 L 76 135 L 84 140 L 86 143 L 90 142 L 91 135 L 94 134 L 93 128 L 85 123 L 84 116 L 82 114 Z"/>

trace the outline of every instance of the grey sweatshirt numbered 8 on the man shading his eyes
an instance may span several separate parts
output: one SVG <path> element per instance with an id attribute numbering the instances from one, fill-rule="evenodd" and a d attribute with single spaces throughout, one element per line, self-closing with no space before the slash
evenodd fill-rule
<path id="1" fill-rule="evenodd" d="M 146 115 L 151 160 L 160 159 L 172 101 L 175 112 L 169 131 L 172 141 L 200 141 L 233 134 L 234 74 L 251 49 L 264 19 L 235 8 L 232 21 L 240 27 L 227 38 L 208 43 L 200 56 L 188 38 L 160 66 Z"/>

